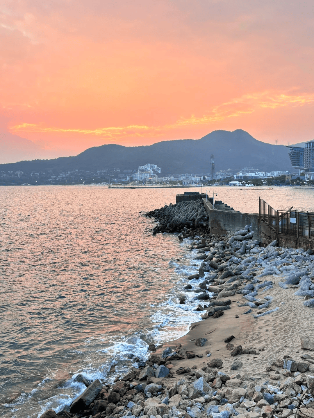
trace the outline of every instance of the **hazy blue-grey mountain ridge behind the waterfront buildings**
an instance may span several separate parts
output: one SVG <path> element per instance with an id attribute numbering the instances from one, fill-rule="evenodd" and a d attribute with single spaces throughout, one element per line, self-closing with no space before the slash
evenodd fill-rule
<path id="1" fill-rule="evenodd" d="M 249 165 L 261 171 L 291 169 L 288 150 L 284 145 L 258 141 L 244 130 L 237 129 L 233 132 L 216 130 L 199 140 L 162 141 L 139 147 L 101 145 L 88 148 L 73 157 L 1 164 L 0 171 L 137 169 L 139 165 L 153 163 L 161 168 L 162 175 L 209 173 L 211 154 L 215 155 L 216 171 L 227 168 L 239 171 Z"/>

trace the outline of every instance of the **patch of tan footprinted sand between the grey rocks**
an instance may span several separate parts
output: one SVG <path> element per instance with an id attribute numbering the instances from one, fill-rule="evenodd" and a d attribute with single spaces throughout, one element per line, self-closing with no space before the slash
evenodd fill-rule
<path id="1" fill-rule="evenodd" d="M 314 340 L 314 329 L 312 327 L 314 312 L 311 308 L 303 305 L 303 298 L 295 296 L 293 293 L 297 290 L 294 286 L 288 289 L 282 289 L 278 286 L 281 278 L 276 275 L 264 277 L 265 281 L 272 280 L 275 287 L 265 292 L 263 296 L 273 296 L 272 308 L 279 307 L 278 311 L 260 318 L 253 318 L 251 314 L 243 313 L 248 307 L 238 307 L 237 301 L 245 301 L 242 295 L 232 296 L 231 309 L 224 311 L 224 315 L 217 319 L 209 317 L 200 322 L 191 324 L 191 329 L 185 336 L 170 342 L 165 342 L 162 349 L 157 349 L 157 354 L 161 355 L 165 347 L 174 347 L 182 344 L 181 351 L 193 351 L 195 354 L 203 354 L 202 358 L 183 359 L 173 361 L 174 370 L 177 367 L 191 367 L 194 364 L 201 368 L 213 358 L 223 360 L 223 370 L 230 373 L 231 364 L 234 357 L 231 357 L 230 351 L 226 349 L 224 339 L 234 335 L 231 343 L 234 347 L 242 345 L 243 349 L 255 349 L 259 355 L 237 355 L 243 362 L 243 367 L 239 369 L 241 375 L 247 374 L 247 377 L 258 375 L 261 380 L 270 380 L 269 373 L 265 366 L 271 359 L 283 358 L 285 355 L 293 359 L 300 359 L 304 354 L 301 350 L 301 336 L 308 335 Z M 222 298 L 229 299 L 228 297 Z M 206 311 L 209 309 L 207 308 Z M 267 311 L 263 309 L 258 314 Z M 239 318 L 235 316 L 238 315 Z M 203 347 L 197 347 L 195 341 L 197 338 L 207 338 Z M 211 356 L 206 357 L 206 351 L 211 352 Z M 281 379 L 284 377 L 281 376 Z M 273 382 L 274 384 L 275 382 Z"/>

